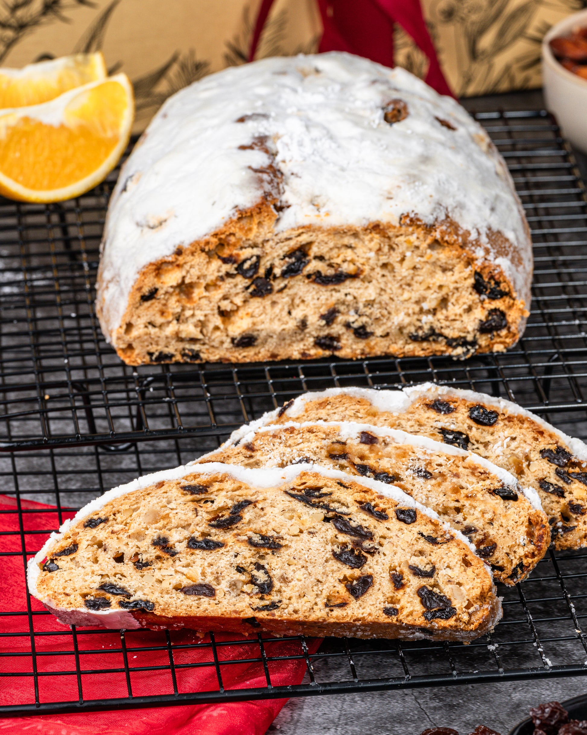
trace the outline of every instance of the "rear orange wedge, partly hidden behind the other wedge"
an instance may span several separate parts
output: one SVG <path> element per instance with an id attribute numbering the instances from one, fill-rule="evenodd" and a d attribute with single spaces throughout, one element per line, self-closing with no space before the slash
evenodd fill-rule
<path id="1" fill-rule="evenodd" d="M 0 68 L 0 108 L 48 102 L 106 76 L 106 64 L 99 51 L 40 61 L 22 69 Z"/>

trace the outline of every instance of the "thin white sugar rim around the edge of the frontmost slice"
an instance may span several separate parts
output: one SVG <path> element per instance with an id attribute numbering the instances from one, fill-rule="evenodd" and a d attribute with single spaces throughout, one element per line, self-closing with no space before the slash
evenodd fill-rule
<path id="1" fill-rule="evenodd" d="M 163 470 L 161 472 L 152 473 L 143 477 L 136 478 L 136 480 L 129 482 L 119 487 L 114 487 L 112 490 L 105 492 L 100 498 L 95 498 L 79 510 L 72 520 L 66 520 L 59 528 L 58 533 L 52 533 L 47 539 L 43 548 L 38 551 L 32 559 L 29 559 L 27 564 L 27 584 L 29 592 L 37 600 L 53 613 L 57 620 L 65 625 L 103 625 L 106 628 L 140 628 L 138 621 L 131 615 L 130 612 L 118 611 L 118 610 L 104 610 L 98 612 L 90 612 L 86 609 L 64 609 L 53 604 L 51 599 L 43 599 L 40 593 L 37 591 L 37 580 L 40 574 L 40 564 L 51 553 L 51 549 L 54 545 L 62 539 L 63 534 L 69 530 L 69 528 L 77 523 L 79 520 L 83 520 L 85 517 L 95 514 L 100 511 L 106 503 L 109 503 L 116 498 L 120 498 L 122 495 L 126 495 L 128 492 L 134 492 L 142 488 L 150 487 L 161 480 L 177 480 L 186 475 L 200 474 L 201 476 L 209 476 L 216 473 L 226 473 L 227 475 L 236 478 L 237 480 L 249 485 L 249 487 L 280 487 L 285 482 L 291 482 L 294 478 L 299 476 L 302 472 L 315 472 L 329 477 L 346 482 L 355 482 L 365 487 L 371 488 L 375 492 L 379 492 L 380 495 L 384 495 L 387 498 L 391 498 L 397 503 L 401 503 L 402 506 L 409 508 L 415 508 L 423 514 L 436 520 L 442 528 L 451 533 L 455 538 L 462 541 L 467 545 L 467 548 L 475 553 L 475 546 L 464 536 L 460 531 L 456 531 L 451 528 L 439 515 L 433 510 L 420 505 L 417 501 L 407 495 L 403 490 L 395 485 L 386 484 L 377 480 L 372 480 L 368 477 L 357 478 L 354 476 L 347 475 L 340 470 L 332 470 L 328 467 L 320 467 L 318 465 L 301 464 L 301 465 L 290 465 L 289 467 L 263 467 L 261 469 L 250 469 L 249 467 L 240 467 L 238 465 L 225 465 L 222 462 L 209 462 L 203 465 L 194 465 L 190 462 L 188 465 L 181 465 L 175 467 L 172 470 Z M 484 565 L 486 573 L 493 579 L 492 571 L 486 564 Z M 499 616 L 500 617 L 500 616 Z M 497 620 L 499 620 L 497 617 Z M 497 623 L 497 620 L 495 621 Z"/>

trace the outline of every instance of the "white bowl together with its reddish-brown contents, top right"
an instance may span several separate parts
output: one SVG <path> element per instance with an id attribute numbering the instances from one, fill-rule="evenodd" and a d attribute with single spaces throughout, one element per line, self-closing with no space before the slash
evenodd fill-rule
<path id="1" fill-rule="evenodd" d="M 572 13 L 544 36 L 542 85 L 547 109 L 565 137 L 587 153 L 587 10 Z"/>

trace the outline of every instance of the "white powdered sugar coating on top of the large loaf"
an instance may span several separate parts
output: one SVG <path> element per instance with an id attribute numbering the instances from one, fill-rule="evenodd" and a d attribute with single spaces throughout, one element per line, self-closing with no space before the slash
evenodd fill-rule
<path id="1" fill-rule="evenodd" d="M 394 98 L 409 115 L 390 125 L 384 107 Z M 255 137 L 269 140 L 271 157 L 251 148 Z M 161 107 L 123 166 L 106 219 L 99 298 L 107 338 L 142 268 L 257 204 L 263 182 L 253 169 L 269 164 L 283 175 L 277 232 L 451 218 L 529 306 L 531 243 L 486 132 L 404 69 L 334 52 L 228 68 Z M 505 254 L 489 247 L 490 232 L 505 236 Z"/>

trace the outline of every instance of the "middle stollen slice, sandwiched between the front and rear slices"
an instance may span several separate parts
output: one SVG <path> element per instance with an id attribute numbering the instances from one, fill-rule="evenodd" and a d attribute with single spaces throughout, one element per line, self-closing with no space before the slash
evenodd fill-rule
<path id="1" fill-rule="evenodd" d="M 462 531 L 491 564 L 495 579 L 522 581 L 550 544 L 548 517 L 536 490 L 458 447 L 369 424 L 288 422 L 251 431 L 201 457 L 243 467 L 313 462 L 393 483 Z"/>

